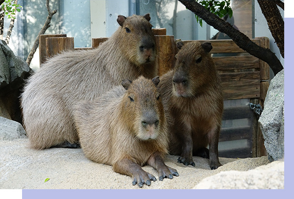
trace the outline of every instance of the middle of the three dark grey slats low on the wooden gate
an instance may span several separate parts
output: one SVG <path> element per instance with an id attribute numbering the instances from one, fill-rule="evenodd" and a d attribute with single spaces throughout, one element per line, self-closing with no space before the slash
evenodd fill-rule
<path id="1" fill-rule="evenodd" d="M 219 142 L 250 139 L 252 134 L 251 126 L 221 128 Z"/>

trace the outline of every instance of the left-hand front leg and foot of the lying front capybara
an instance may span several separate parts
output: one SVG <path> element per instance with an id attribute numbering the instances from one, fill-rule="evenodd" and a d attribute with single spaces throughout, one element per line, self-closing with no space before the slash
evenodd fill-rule
<path id="1" fill-rule="evenodd" d="M 156 181 L 154 175 L 144 171 L 140 165 L 125 158 L 112 165 L 113 170 L 120 174 L 125 174 L 133 177 L 133 185 L 138 183 L 139 187 L 143 187 L 143 184 L 148 186 L 151 184 L 151 180 Z"/>

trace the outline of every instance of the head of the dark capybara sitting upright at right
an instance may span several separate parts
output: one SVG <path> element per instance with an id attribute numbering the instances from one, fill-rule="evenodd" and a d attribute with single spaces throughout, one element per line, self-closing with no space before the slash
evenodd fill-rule
<path id="1" fill-rule="evenodd" d="M 173 70 L 173 93 L 177 97 L 192 97 L 203 92 L 206 84 L 214 81 L 215 65 L 210 55 L 211 43 L 178 43 Z"/>

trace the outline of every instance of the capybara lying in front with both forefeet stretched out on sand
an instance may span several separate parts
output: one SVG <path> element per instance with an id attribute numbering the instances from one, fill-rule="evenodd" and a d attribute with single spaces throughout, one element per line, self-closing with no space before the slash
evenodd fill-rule
<path id="1" fill-rule="evenodd" d="M 73 115 L 85 155 L 98 163 L 112 165 L 117 173 L 133 177 L 133 185 L 150 185 L 154 175 L 141 166 L 154 167 L 159 180 L 178 176 L 164 164 L 168 132 L 164 109 L 156 86 L 159 77 L 124 79 L 95 101 L 81 101 Z"/>

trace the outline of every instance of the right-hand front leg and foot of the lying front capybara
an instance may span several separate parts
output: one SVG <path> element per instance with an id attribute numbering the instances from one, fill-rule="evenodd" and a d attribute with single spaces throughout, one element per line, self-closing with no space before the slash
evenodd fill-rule
<path id="1" fill-rule="evenodd" d="M 159 180 L 162 181 L 163 178 L 173 178 L 174 176 L 179 176 L 177 171 L 175 169 L 172 169 L 171 167 L 168 167 L 164 164 L 164 161 L 162 159 L 162 156 L 159 152 L 153 153 L 150 158 L 148 159 L 148 165 L 151 167 L 154 167 L 159 175 Z"/>

